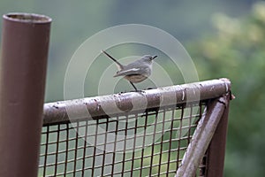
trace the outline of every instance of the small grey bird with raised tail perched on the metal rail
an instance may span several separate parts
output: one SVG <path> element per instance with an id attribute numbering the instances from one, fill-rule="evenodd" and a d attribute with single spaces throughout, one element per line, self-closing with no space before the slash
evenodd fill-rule
<path id="1" fill-rule="evenodd" d="M 145 55 L 140 59 L 130 63 L 128 65 L 122 65 L 117 61 L 117 59 L 110 56 L 109 53 L 102 50 L 102 53 L 107 57 L 112 59 L 116 64 L 118 71 L 113 77 L 123 76 L 127 81 L 129 81 L 136 92 L 140 91 L 135 87 L 133 83 L 139 83 L 141 81 L 146 80 L 152 73 L 152 64 L 153 60 L 157 58 L 157 56 Z"/>

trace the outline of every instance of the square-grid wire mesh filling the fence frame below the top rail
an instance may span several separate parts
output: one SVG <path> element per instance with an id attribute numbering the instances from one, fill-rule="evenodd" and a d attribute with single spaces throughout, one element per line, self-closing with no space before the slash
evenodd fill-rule
<path id="1" fill-rule="evenodd" d="M 42 127 L 39 176 L 174 176 L 205 104 Z M 203 176 L 203 158 L 197 176 Z"/>

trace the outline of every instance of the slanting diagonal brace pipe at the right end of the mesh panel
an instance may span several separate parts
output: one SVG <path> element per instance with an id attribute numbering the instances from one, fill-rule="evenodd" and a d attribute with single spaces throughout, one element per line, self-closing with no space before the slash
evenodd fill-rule
<path id="1" fill-rule="evenodd" d="M 228 109 L 229 100 L 230 96 L 222 96 L 216 98 L 216 100 L 207 105 L 205 110 L 206 113 L 204 113 L 204 116 L 202 116 L 198 123 L 198 127 L 196 127 L 193 134 L 193 140 L 186 150 L 185 157 L 178 168 L 176 177 L 195 176 L 196 170 L 200 165 L 201 158 L 203 158 L 212 137 L 216 133 L 216 127 L 218 126 L 220 119 L 222 119 L 223 113 L 226 109 Z M 223 151 L 223 148 L 224 147 L 222 147 L 221 151 Z M 219 153 L 218 150 L 215 152 Z M 224 152 L 222 153 L 222 156 L 224 157 Z M 209 176 L 222 176 L 223 173 L 221 172 L 223 172 L 223 159 L 221 159 L 219 163 L 222 164 L 221 168 L 220 165 L 218 166 L 218 172 L 220 172 L 220 174 Z"/>

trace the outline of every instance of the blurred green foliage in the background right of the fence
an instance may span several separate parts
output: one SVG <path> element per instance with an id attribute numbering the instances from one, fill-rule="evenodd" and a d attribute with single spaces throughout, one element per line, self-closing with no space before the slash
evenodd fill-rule
<path id="1" fill-rule="evenodd" d="M 231 79 L 225 176 L 265 175 L 265 3 L 250 15 L 213 17 L 216 35 L 191 42 L 188 51 L 201 80 Z"/>

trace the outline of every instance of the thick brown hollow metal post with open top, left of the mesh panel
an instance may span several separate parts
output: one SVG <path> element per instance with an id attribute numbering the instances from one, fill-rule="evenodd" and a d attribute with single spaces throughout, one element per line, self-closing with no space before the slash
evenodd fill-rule
<path id="1" fill-rule="evenodd" d="M 51 19 L 3 16 L 0 176 L 37 176 Z"/>

